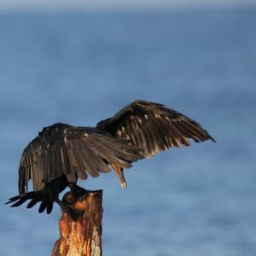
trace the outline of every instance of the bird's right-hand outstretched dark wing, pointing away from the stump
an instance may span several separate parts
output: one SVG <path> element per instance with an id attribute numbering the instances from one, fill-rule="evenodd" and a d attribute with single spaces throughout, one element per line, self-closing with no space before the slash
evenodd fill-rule
<path id="1" fill-rule="evenodd" d="M 114 137 L 128 139 L 143 149 L 143 157 L 150 157 L 170 147 L 189 146 L 214 139 L 193 119 L 154 102 L 135 101 L 112 118 L 102 120 L 98 129 Z"/>

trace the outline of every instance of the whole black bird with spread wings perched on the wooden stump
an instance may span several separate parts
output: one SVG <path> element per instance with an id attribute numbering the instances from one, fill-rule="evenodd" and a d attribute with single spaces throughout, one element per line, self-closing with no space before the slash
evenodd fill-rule
<path id="1" fill-rule="evenodd" d="M 188 147 L 214 139 L 193 119 L 154 102 L 137 100 L 96 127 L 57 123 L 45 127 L 24 149 L 19 167 L 19 195 L 9 199 L 27 208 L 41 202 L 38 212 L 49 213 L 54 202 L 65 211 L 59 194 L 67 186 L 78 192 L 78 179 L 99 176 L 112 166 L 122 188 L 126 187 L 124 168 L 167 148 Z M 28 191 L 32 179 L 33 191 Z"/>

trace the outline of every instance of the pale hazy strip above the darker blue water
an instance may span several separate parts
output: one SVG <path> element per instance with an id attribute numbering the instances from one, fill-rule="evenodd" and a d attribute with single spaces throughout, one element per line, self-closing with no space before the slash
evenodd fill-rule
<path id="1" fill-rule="evenodd" d="M 155 3 L 150 2 L 149 4 L 143 4 L 139 2 L 125 2 L 125 3 L 118 3 L 118 4 L 106 4 L 102 3 L 102 0 L 98 0 L 97 3 L 80 3 L 80 2 L 73 2 L 69 3 L 62 2 L 60 3 L 53 3 L 48 2 L 45 0 L 37 1 L 37 3 L 33 2 L 30 3 L 30 0 L 26 1 L 26 3 L 3 3 L 0 0 L 0 13 L 9 12 L 9 11 L 169 11 L 169 10 L 201 10 L 201 9 L 237 9 L 237 8 L 255 8 L 256 1 L 247 0 L 247 1 L 240 1 L 236 0 L 236 2 L 230 3 L 230 1 L 213 1 L 212 3 L 205 3 L 202 0 L 196 1 L 194 3 L 180 3 L 180 2 L 172 2 L 172 3 Z M 99 4 L 101 3 L 101 4 Z M 109 3 L 109 2 L 108 2 Z"/>

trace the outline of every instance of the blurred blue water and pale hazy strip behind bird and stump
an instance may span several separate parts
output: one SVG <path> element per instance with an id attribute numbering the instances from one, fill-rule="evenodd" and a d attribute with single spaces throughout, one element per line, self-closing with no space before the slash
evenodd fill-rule
<path id="1" fill-rule="evenodd" d="M 3 205 L 26 144 L 141 98 L 218 143 L 135 163 L 125 190 L 113 173 L 80 183 L 104 191 L 103 254 L 256 255 L 255 45 L 253 1 L 0 1 L 0 254 L 50 255 L 59 237 L 59 207 Z"/>

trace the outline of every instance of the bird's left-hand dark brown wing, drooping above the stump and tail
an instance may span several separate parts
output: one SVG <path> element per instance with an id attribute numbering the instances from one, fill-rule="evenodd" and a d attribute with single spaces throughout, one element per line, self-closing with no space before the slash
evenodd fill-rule
<path id="1" fill-rule="evenodd" d="M 97 134 L 83 127 L 55 124 L 44 128 L 25 148 L 19 168 L 19 192 L 28 190 L 32 179 L 33 190 L 65 175 L 69 182 L 85 179 L 88 174 L 110 172 L 108 164 L 120 168 L 131 167 L 140 158 L 137 148 L 113 137 Z"/>

